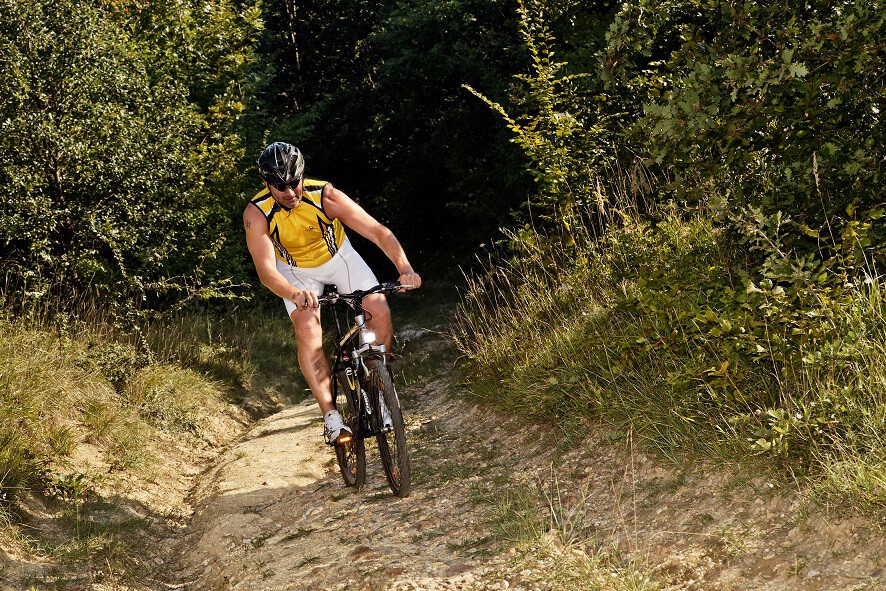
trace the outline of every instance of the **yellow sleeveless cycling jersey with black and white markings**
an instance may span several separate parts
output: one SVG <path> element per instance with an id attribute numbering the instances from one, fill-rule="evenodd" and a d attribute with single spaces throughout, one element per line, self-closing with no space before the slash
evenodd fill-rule
<path id="1" fill-rule="evenodd" d="M 323 210 L 325 181 L 305 179 L 301 201 L 285 209 L 265 187 L 252 198 L 268 221 L 268 236 L 277 258 L 293 267 L 319 267 L 328 262 L 345 240 L 345 228 Z"/>

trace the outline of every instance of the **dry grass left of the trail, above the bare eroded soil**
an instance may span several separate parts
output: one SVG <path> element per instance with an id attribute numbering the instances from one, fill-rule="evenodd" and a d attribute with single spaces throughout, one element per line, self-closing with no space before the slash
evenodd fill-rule
<path id="1" fill-rule="evenodd" d="M 111 469 L 138 470 L 150 465 L 154 431 L 201 437 L 228 405 L 260 413 L 304 396 L 282 311 L 204 310 L 134 323 L 91 296 L 4 302 L 0 504 L 67 470 L 80 445 L 99 449 Z"/>

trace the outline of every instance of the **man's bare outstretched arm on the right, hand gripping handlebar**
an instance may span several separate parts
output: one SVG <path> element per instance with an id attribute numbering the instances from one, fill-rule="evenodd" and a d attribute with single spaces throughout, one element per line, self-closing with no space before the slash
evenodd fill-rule
<path id="1" fill-rule="evenodd" d="M 421 277 L 409 264 L 406 253 L 394 233 L 381 225 L 378 220 L 366 213 L 353 199 L 333 187 L 323 188 L 323 209 L 330 218 L 337 218 L 367 240 L 382 249 L 400 273 L 400 283 L 421 286 Z"/>

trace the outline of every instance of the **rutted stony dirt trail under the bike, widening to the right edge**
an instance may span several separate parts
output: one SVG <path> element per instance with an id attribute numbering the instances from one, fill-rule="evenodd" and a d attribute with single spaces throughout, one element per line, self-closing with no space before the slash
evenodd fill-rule
<path id="1" fill-rule="evenodd" d="M 613 436 L 560 451 L 549 426 L 449 396 L 450 370 L 401 393 L 406 499 L 390 494 L 374 445 L 367 486 L 343 486 L 313 402 L 256 424 L 193 492 L 175 586 L 848 590 L 886 580 L 886 538 L 868 519 L 807 516 L 765 481 L 662 467 Z M 560 527 L 542 535 L 552 512 Z M 580 569 L 598 580 L 562 572 Z M 647 583 L 628 587 L 630 577 Z"/>

